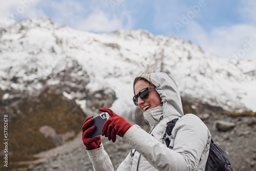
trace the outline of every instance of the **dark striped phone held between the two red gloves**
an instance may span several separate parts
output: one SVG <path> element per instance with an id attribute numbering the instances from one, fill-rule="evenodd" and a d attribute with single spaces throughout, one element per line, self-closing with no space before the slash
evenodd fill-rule
<path id="1" fill-rule="evenodd" d="M 95 126 L 95 130 L 91 135 L 91 138 L 98 137 L 101 135 L 102 127 L 107 119 L 110 118 L 110 115 L 108 112 L 104 112 L 102 114 L 99 114 L 95 117 L 93 117 L 93 125 Z"/>

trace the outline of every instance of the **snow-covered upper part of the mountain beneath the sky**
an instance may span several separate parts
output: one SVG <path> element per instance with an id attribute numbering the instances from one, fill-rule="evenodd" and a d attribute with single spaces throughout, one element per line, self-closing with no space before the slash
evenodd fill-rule
<path id="1" fill-rule="evenodd" d="M 103 90 L 115 92 L 115 112 L 131 114 L 133 79 L 168 55 L 154 72 L 171 74 L 183 97 L 227 111 L 256 112 L 256 59 L 219 58 L 180 38 L 144 30 L 94 34 L 42 17 L 1 28 L 0 42 L 2 100 L 66 84 L 63 95 L 75 98 L 83 110 L 90 105 L 88 92 Z"/>

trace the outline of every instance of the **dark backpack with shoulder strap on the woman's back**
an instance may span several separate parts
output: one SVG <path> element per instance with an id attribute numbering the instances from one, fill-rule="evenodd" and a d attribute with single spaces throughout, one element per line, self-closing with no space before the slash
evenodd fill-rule
<path id="1" fill-rule="evenodd" d="M 164 133 L 163 139 L 167 147 L 170 144 L 170 138 L 172 136 L 172 131 L 175 126 L 175 123 L 179 118 L 169 121 L 166 125 L 166 131 Z M 227 152 L 223 151 L 221 147 L 217 145 L 218 143 L 214 142 L 211 139 L 210 149 L 208 159 L 205 165 L 205 171 L 233 171 L 230 162 L 227 157 Z"/>

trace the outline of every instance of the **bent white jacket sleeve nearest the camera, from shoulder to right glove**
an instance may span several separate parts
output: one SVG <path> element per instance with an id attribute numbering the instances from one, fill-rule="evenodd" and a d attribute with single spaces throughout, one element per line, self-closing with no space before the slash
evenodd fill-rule
<path id="1" fill-rule="evenodd" d="M 210 139 L 206 125 L 198 118 L 183 116 L 176 123 L 174 148 L 170 149 L 138 125 L 133 125 L 124 139 L 158 170 L 195 170 Z M 208 154 L 207 154 L 208 155 Z"/>

